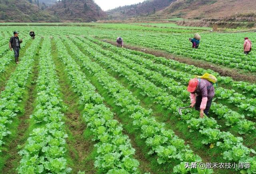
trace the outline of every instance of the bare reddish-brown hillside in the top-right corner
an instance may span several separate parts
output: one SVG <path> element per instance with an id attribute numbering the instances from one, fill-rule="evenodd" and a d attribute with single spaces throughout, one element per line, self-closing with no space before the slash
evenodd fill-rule
<path id="1" fill-rule="evenodd" d="M 255 12 L 255 9 L 255 0 L 177 0 L 156 15 L 194 19 L 224 18 Z"/>

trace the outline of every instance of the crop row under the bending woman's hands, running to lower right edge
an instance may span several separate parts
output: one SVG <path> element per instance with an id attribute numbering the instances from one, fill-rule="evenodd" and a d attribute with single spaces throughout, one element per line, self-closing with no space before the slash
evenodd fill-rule
<path id="1" fill-rule="evenodd" d="M 76 41 L 74 41 L 76 42 Z M 144 77 L 138 75 L 135 71 L 128 69 L 126 65 L 121 63 L 116 63 L 111 58 L 104 56 L 98 51 L 92 49 L 89 45 L 84 44 L 83 42 L 77 41 L 77 44 L 81 45 L 82 48 L 94 59 L 104 63 L 113 71 L 124 76 L 130 83 L 144 92 L 144 95 L 153 97 L 157 103 L 160 103 L 162 107 L 169 109 L 173 112 L 174 115 L 177 114 L 179 106 L 182 106 L 183 103 L 179 99 L 168 95 L 161 88 L 156 87 L 150 81 L 144 79 Z M 84 66 L 88 66 L 88 63 L 84 63 Z M 91 66 L 90 66 L 91 67 Z M 191 112 L 191 113 L 188 113 Z M 255 153 L 253 149 L 247 148 L 242 144 L 243 139 L 240 137 L 235 137 L 230 132 L 220 131 L 216 121 L 213 118 L 205 117 L 204 119 L 194 118 L 194 111 L 187 111 L 187 113 L 182 117 L 188 125 L 194 124 L 197 121 L 197 124 L 194 125 L 194 128 L 199 129 L 200 133 L 204 135 L 205 139 L 202 141 L 203 144 L 217 144 L 222 151 L 224 159 L 229 161 L 247 161 L 247 160 L 256 160 L 255 157 L 250 157 L 250 154 Z M 197 114 L 198 115 L 198 114 Z M 249 169 L 250 170 L 250 169 Z"/>

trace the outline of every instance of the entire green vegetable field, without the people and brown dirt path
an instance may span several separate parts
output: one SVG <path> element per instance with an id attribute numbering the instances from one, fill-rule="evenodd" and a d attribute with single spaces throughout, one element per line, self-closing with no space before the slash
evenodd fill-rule
<path id="1" fill-rule="evenodd" d="M 243 38 L 254 43 L 254 33 L 14 25 L 0 26 L 0 173 L 256 173 L 253 81 L 108 43 L 121 36 L 126 45 L 255 78 L 254 48 L 243 53 Z M 14 30 L 23 38 L 18 65 L 8 49 Z M 195 32 L 199 49 L 188 42 Z M 206 72 L 218 79 L 209 117 L 179 115 L 190 105 L 188 81 Z"/>

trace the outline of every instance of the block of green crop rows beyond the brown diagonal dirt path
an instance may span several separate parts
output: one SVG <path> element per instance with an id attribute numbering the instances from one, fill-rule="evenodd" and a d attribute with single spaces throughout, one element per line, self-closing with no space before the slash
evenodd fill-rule
<path id="1" fill-rule="evenodd" d="M 256 59 L 254 53 L 249 56 L 243 54 L 242 34 L 202 34 L 202 39 L 199 49 L 192 49 L 191 42 L 188 38 L 193 37 L 188 34 L 158 34 L 156 32 L 130 32 L 130 31 L 114 31 L 109 33 L 107 30 L 93 30 L 89 31 L 93 36 L 100 38 L 116 39 L 116 36 L 123 36 L 126 43 L 134 45 L 145 46 L 154 49 L 160 49 L 182 55 L 192 57 L 194 59 L 202 59 L 205 61 L 225 65 L 231 68 L 246 69 L 255 72 L 256 66 L 253 59 Z M 252 34 L 247 34 L 251 39 L 254 38 Z M 213 39 L 214 38 L 214 39 Z M 232 42 L 232 39 L 238 42 Z M 218 44 L 216 44 L 218 42 Z"/>

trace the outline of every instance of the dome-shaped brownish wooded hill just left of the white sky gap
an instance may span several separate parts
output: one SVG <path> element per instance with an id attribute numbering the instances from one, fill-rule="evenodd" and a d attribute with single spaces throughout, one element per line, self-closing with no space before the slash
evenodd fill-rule
<path id="1" fill-rule="evenodd" d="M 107 17 L 93 0 L 62 0 L 48 8 L 48 12 L 64 21 L 92 22 Z"/>

